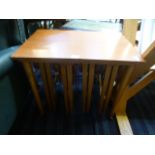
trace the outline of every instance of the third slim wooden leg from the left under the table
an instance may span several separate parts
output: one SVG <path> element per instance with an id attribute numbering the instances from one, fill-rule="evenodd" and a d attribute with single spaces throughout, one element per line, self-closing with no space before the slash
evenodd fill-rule
<path id="1" fill-rule="evenodd" d="M 47 75 L 47 83 L 49 87 L 49 94 L 50 94 L 50 101 L 52 102 L 52 108 L 55 109 L 56 107 L 56 96 L 55 96 L 55 87 L 54 87 L 54 80 L 51 75 L 51 67 L 50 64 L 46 63 L 45 64 L 45 70 L 46 70 L 46 75 Z"/>

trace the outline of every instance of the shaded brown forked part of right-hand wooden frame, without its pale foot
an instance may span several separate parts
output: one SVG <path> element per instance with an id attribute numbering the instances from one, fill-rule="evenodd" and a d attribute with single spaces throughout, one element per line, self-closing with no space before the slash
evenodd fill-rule
<path id="1" fill-rule="evenodd" d="M 143 53 L 143 58 L 146 60 L 146 63 L 136 65 L 135 67 L 130 67 L 128 72 L 123 77 L 121 82 L 121 86 L 118 90 L 118 94 L 115 100 L 113 112 L 120 112 L 126 110 L 126 103 L 129 97 L 135 95 L 138 91 L 144 88 L 148 83 L 150 83 L 154 79 L 154 73 L 150 72 L 150 67 L 155 63 L 155 42 L 153 42 L 147 50 Z M 144 76 L 145 74 L 145 76 Z M 130 87 L 131 82 L 136 80 L 139 76 L 143 77 L 138 80 L 133 86 Z M 117 107 L 117 108 L 116 108 Z M 117 110 L 116 110 L 117 109 Z"/>

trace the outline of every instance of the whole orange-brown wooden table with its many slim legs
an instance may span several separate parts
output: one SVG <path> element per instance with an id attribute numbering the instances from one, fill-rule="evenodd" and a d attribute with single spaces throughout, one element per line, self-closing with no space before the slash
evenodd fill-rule
<path id="1" fill-rule="evenodd" d="M 51 66 L 57 64 L 64 89 L 64 100 L 67 112 L 74 108 L 73 66 L 82 68 L 82 96 L 84 111 L 91 107 L 92 90 L 96 66 L 103 66 L 99 110 L 106 111 L 113 91 L 120 92 L 128 84 L 128 79 L 136 64 L 144 63 L 138 50 L 119 32 L 73 30 L 37 30 L 12 58 L 22 62 L 28 75 L 38 108 L 43 113 L 37 81 L 32 65 L 38 64 L 46 99 L 49 107 L 56 104 L 55 88 L 51 76 Z M 120 76 L 121 75 L 121 76 Z M 120 93 L 117 94 L 120 97 Z M 117 98 L 117 96 L 116 96 Z M 115 102 L 117 108 L 117 102 Z"/>

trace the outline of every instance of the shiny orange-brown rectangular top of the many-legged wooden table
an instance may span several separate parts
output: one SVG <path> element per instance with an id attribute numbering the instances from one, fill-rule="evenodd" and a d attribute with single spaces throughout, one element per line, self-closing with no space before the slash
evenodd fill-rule
<path id="1" fill-rule="evenodd" d="M 51 62 L 144 62 L 137 47 L 119 32 L 37 30 L 12 55 L 13 59 Z"/>

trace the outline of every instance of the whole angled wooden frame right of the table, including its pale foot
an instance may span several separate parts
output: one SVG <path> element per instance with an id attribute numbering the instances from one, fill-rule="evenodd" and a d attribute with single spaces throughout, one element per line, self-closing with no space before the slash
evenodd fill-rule
<path id="1" fill-rule="evenodd" d="M 142 54 L 142 58 L 146 61 L 146 63 L 137 64 L 131 71 L 132 74 L 129 76 L 126 86 L 122 89 L 118 89 L 112 110 L 112 113 L 117 113 L 118 122 L 121 122 L 122 118 L 126 116 L 127 101 L 155 79 L 155 41 Z M 127 117 L 125 119 L 127 119 Z M 126 124 L 126 122 L 128 123 Z M 129 121 L 126 122 L 124 123 L 126 124 L 126 130 L 122 130 L 122 133 L 131 134 L 132 130 Z"/>

